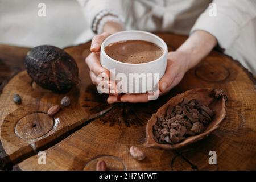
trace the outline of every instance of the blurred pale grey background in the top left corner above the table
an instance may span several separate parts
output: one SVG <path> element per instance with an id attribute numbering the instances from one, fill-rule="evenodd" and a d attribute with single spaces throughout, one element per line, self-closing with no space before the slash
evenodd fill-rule
<path id="1" fill-rule="evenodd" d="M 46 17 L 38 16 L 39 3 L 46 4 Z M 0 0 L 0 44 L 63 48 L 92 36 L 76 0 Z"/>

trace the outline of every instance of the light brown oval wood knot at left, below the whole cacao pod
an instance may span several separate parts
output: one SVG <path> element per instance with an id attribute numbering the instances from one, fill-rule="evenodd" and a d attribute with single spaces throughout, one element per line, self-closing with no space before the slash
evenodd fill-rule
<path id="1" fill-rule="evenodd" d="M 53 125 L 53 118 L 46 113 L 32 113 L 16 123 L 15 133 L 22 139 L 35 139 L 46 135 Z"/>

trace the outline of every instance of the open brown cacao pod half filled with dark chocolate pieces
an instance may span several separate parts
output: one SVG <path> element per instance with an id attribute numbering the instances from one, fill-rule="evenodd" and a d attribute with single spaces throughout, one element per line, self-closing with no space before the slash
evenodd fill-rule
<path id="1" fill-rule="evenodd" d="M 185 100 L 189 102 L 185 103 Z M 146 147 L 173 150 L 187 146 L 188 144 L 194 143 L 200 139 L 203 139 L 204 137 L 207 137 L 210 133 L 216 130 L 220 126 L 220 123 L 224 120 L 226 115 L 226 100 L 227 96 L 225 92 L 212 88 L 197 88 L 187 90 L 186 92 L 172 97 L 169 101 L 167 101 L 166 104 L 160 107 L 155 114 L 152 114 L 151 118 L 148 120 L 146 126 L 147 137 L 146 143 L 144 145 Z M 180 105 L 180 108 L 176 107 L 177 105 Z M 181 106 L 184 106 L 186 108 L 187 106 L 195 107 L 198 108 L 200 111 L 199 113 L 193 113 L 195 112 L 195 110 L 189 109 L 188 107 L 188 110 L 184 112 Z M 181 115 L 180 110 L 186 118 L 179 117 Z M 161 131 L 163 128 L 163 126 L 161 126 L 161 123 L 163 123 L 163 121 L 159 118 L 163 118 L 167 114 L 171 115 L 170 113 L 168 113 L 169 111 L 171 111 L 172 113 L 175 112 L 176 115 L 173 118 L 175 118 L 181 125 L 183 125 L 183 131 L 181 131 L 179 127 L 175 127 L 175 129 L 171 128 L 169 130 L 170 137 L 168 139 L 168 137 L 166 137 L 168 135 L 163 135 L 163 137 L 160 135 L 159 137 L 159 130 Z M 205 115 L 202 114 L 203 112 Z M 210 118 L 210 115 L 212 116 L 212 118 Z M 197 116 L 198 118 L 193 118 L 195 116 Z M 200 116 L 203 117 L 202 121 L 200 119 Z M 207 124 L 207 126 L 204 126 L 204 121 L 205 119 L 207 119 L 207 117 L 210 118 L 210 125 Z M 170 121 L 173 118 L 171 117 Z M 192 123 L 189 118 L 196 120 Z M 186 137 L 184 137 L 185 135 Z"/>

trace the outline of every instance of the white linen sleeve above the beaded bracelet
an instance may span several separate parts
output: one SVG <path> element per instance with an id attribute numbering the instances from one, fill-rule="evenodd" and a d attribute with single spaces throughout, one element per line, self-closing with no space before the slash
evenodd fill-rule
<path id="1" fill-rule="evenodd" d="M 123 19 L 122 0 L 77 0 L 82 6 L 85 19 L 92 26 L 93 20 L 103 10 L 112 10 Z"/>

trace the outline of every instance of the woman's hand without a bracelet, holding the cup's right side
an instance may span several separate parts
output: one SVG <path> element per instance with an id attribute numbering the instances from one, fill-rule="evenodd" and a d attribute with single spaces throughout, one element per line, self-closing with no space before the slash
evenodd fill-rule
<path id="1" fill-rule="evenodd" d="M 197 30 L 175 52 L 168 53 L 166 72 L 159 81 L 159 96 L 179 84 L 185 72 L 195 67 L 217 44 L 217 39 L 208 32 Z M 108 102 L 148 102 L 149 94 L 125 94 L 109 96 Z"/>

